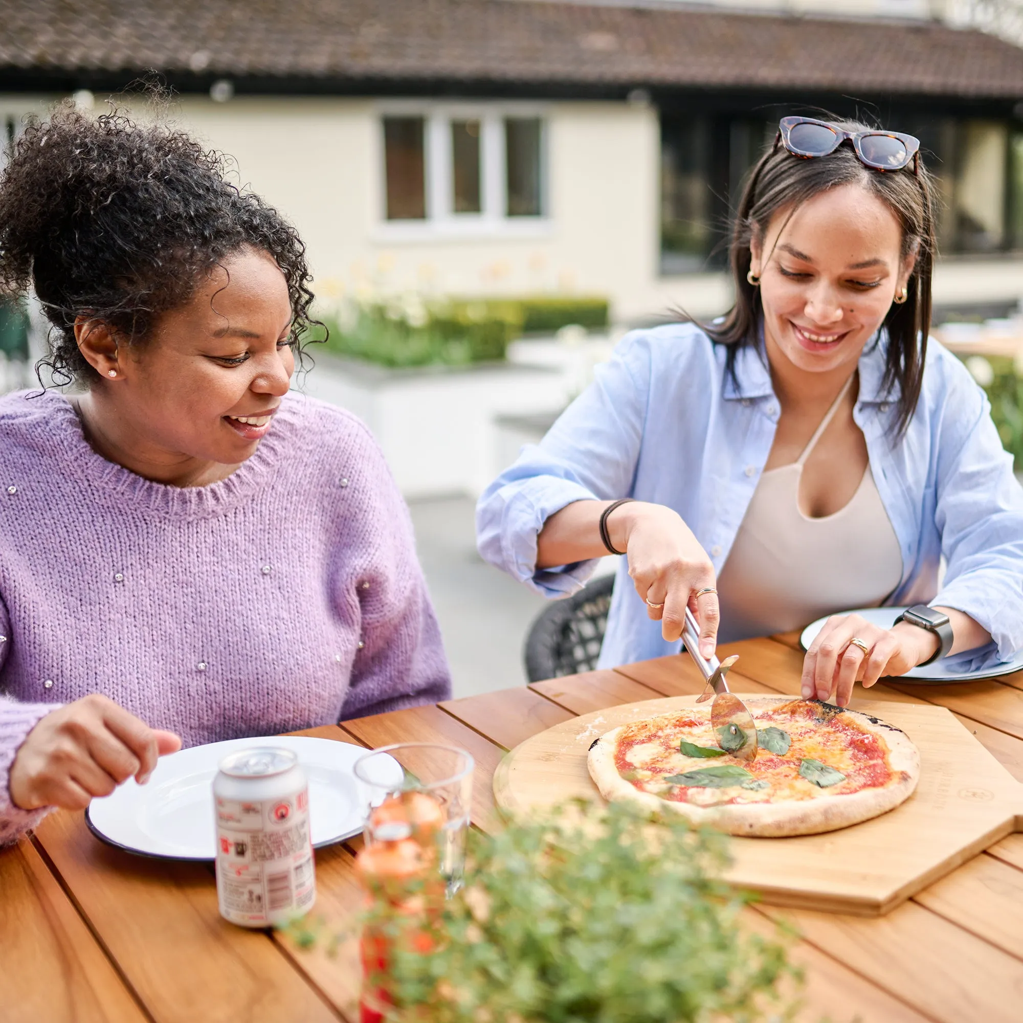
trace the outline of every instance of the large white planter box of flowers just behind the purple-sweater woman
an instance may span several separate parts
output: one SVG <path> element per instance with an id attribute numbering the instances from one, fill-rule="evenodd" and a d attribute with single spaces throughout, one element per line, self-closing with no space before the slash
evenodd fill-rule
<path id="1" fill-rule="evenodd" d="M 557 368 L 487 363 L 387 369 L 313 350 L 296 387 L 372 431 L 406 497 L 479 495 L 502 470 L 496 419 L 557 413 L 571 382 Z"/>

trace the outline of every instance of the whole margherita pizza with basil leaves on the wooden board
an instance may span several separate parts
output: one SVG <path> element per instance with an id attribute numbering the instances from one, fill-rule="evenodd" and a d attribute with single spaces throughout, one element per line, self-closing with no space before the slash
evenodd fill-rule
<path id="1" fill-rule="evenodd" d="M 601 736 L 589 773 L 606 799 L 670 809 L 731 835 L 782 838 L 859 824 L 908 799 L 920 753 L 876 717 L 816 700 L 744 696 L 757 755 L 740 760 L 710 704 Z"/>

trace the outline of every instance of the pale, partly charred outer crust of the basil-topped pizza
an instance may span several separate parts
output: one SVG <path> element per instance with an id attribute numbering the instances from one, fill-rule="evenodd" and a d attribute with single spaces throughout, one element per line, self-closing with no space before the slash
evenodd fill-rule
<path id="1" fill-rule="evenodd" d="M 743 700 L 754 718 L 781 704 L 793 702 L 792 697 L 785 696 L 744 695 Z M 795 835 L 816 835 L 821 832 L 837 831 L 894 809 L 913 795 L 920 780 L 920 751 L 904 731 L 858 711 L 845 710 L 843 713 L 853 715 L 860 727 L 873 732 L 888 747 L 888 765 L 892 777 L 886 785 L 844 795 L 822 791 L 813 799 L 776 803 L 751 802 L 697 806 L 694 803 L 661 799 L 653 793 L 640 792 L 623 779 L 618 773 L 615 763 L 618 738 L 623 728 L 634 727 L 639 722 L 614 728 L 595 740 L 589 749 L 587 766 L 590 776 L 605 799 L 630 802 L 649 810 L 679 813 L 694 825 L 707 825 L 729 835 L 788 838 Z M 677 719 L 678 714 L 662 714 L 658 717 L 670 722 Z"/>

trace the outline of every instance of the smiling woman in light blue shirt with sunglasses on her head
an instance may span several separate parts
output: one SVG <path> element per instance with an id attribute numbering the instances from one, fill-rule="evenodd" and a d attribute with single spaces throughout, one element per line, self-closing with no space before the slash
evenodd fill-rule
<path id="1" fill-rule="evenodd" d="M 739 205 L 728 314 L 628 335 L 481 497 L 480 551 L 548 596 L 626 554 L 602 667 L 676 652 L 686 605 L 705 656 L 833 616 L 802 693 L 841 705 L 1023 649 L 1023 490 L 984 393 L 928 343 L 918 149 L 785 118 Z M 914 607 L 890 629 L 837 614 L 881 605 Z"/>

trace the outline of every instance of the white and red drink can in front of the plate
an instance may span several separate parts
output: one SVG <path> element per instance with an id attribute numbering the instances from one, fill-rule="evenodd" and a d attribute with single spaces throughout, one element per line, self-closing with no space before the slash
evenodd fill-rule
<path id="1" fill-rule="evenodd" d="M 242 927 L 286 924 L 316 899 L 309 784 L 298 757 L 253 747 L 225 757 L 213 782 L 217 897 Z"/>

